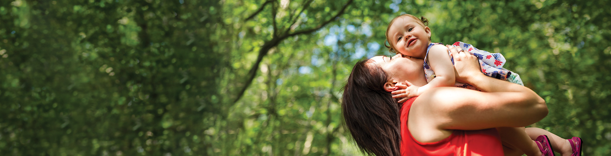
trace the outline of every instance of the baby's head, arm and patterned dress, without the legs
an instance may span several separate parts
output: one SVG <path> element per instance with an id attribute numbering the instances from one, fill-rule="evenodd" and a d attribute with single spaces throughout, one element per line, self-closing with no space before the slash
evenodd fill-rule
<path id="1" fill-rule="evenodd" d="M 415 16 L 404 14 L 390 21 L 386 30 L 386 40 L 390 46 L 387 46 L 386 43 L 384 46 L 389 48 L 389 51 L 425 61 L 424 67 L 428 84 L 420 88 L 408 87 L 408 90 L 406 90 L 408 96 L 401 101 L 419 96 L 424 91 L 434 87 L 455 86 L 477 90 L 472 85 L 455 81 L 452 55 L 444 44 L 431 43 L 431 29 L 426 25 L 428 25 L 426 18 L 418 19 Z M 487 76 L 524 86 L 518 74 L 503 68 L 503 65 L 505 65 L 503 55 L 481 51 L 471 44 L 459 41 L 454 43 L 453 46 L 466 49 L 478 57 L 482 73 Z"/>

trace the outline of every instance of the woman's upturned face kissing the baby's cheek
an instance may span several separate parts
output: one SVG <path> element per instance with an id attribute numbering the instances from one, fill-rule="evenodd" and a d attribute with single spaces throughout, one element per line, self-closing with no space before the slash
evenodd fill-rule
<path id="1" fill-rule="evenodd" d="M 393 57 L 376 56 L 371 58 L 371 60 L 389 74 L 389 82 L 403 83 L 407 80 L 408 82 L 414 83 L 424 80 L 426 84 L 423 69 L 424 61 L 422 59 L 416 59 L 410 56 L 401 57 L 401 54 L 397 54 Z M 414 83 L 414 85 L 420 87 L 424 84 Z"/>

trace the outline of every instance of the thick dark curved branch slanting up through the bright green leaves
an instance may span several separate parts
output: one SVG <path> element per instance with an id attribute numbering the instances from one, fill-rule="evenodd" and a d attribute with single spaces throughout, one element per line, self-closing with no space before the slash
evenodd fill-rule
<path id="1" fill-rule="evenodd" d="M 242 98 L 242 96 L 244 96 L 244 92 L 246 92 L 246 89 L 248 89 L 248 87 L 251 86 L 252 84 L 252 80 L 255 79 L 255 76 L 257 76 L 257 71 L 259 69 L 259 65 L 261 64 L 261 60 L 263 60 L 263 57 L 265 57 L 265 55 L 268 54 L 269 49 L 274 48 L 275 46 L 277 46 L 280 41 L 287 39 L 288 37 L 292 37 L 295 35 L 299 35 L 299 34 L 306 34 L 306 33 L 311 33 L 311 32 L 315 32 L 316 30 L 321 29 L 322 27 L 326 26 L 327 24 L 331 23 L 332 21 L 335 21 L 335 18 L 338 18 L 340 15 L 343 14 L 343 12 L 346 10 L 346 8 L 348 7 L 348 5 L 352 4 L 354 0 L 349 0 L 346 5 L 344 5 L 342 7 L 342 9 L 337 12 L 337 14 L 335 14 L 335 16 L 333 16 L 331 19 L 325 21 L 324 23 L 312 28 L 312 29 L 308 29 L 308 30 L 301 30 L 299 32 L 295 32 L 293 34 L 285 34 L 282 35 L 280 37 L 276 37 L 274 36 L 274 38 L 272 38 L 272 40 L 265 42 L 265 44 L 263 44 L 263 46 L 261 47 L 261 49 L 259 49 L 259 55 L 257 56 L 257 60 L 255 61 L 254 65 L 252 65 L 252 68 L 250 71 L 248 71 L 247 74 L 247 78 L 246 78 L 246 84 L 244 85 L 244 87 L 242 87 L 240 89 L 240 91 L 238 91 L 238 97 L 235 99 L 235 102 L 240 101 L 240 99 Z M 288 28 L 290 29 L 290 27 Z"/>

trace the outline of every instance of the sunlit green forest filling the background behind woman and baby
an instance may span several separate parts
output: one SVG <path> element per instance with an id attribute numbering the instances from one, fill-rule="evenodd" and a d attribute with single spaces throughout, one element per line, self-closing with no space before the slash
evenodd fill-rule
<path id="1" fill-rule="evenodd" d="M 611 154 L 611 10 L 595 1 L 0 1 L 0 155 L 361 155 L 339 99 L 401 13 L 507 58 L 533 127 Z"/>

